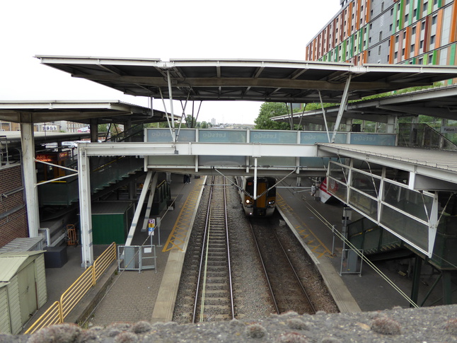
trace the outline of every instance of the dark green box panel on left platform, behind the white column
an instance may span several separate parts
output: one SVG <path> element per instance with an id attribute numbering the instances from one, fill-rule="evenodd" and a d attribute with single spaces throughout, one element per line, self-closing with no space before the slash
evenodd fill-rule
<path id="1" fill-rule="evenodd" d="M 124 244 L 127 238 L 125 214 L 93 214 L 93 244 Z"/>

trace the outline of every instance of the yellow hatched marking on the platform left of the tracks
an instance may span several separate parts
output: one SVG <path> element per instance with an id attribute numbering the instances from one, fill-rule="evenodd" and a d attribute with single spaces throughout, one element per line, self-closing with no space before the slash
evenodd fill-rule
<path id="1" fill-rule="evenodd" d="M 199 194 L 202 190 L 204 178 L 195 179 L 195 181 L 197 182 L 194 187 L 192 187 L 189 196 L 185 200 L 175 226 L 173 226 L 170 235 L 168 235 L 168 240 L 165 245 L 163 245 L 162 252 L 167 252 L 172 249 L 183 251 L 183 245 L 185 244 L 187 232 L 191 229 L 190 223 L 192 223 L 192 216 L 197 210 Z"/>

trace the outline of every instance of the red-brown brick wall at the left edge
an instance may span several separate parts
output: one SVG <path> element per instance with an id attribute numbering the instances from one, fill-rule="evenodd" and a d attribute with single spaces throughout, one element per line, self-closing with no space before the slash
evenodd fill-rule
<path id="1" fill-rule="evenodd" d="M 0 247 L 14 238 L 28 237 L 27 209 L 22 187 L 20 164 L 0 168 Z"/>

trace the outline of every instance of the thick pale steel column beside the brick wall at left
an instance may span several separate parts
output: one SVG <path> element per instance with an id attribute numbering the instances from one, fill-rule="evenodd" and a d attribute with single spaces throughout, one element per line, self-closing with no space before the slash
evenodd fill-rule
<path id="1" fill-rule="evenodd" d="M 22 170 L 24 176 L 25 202 L 27 204 L 28 236 L 37 237 L 40 228 L 38 212 L 37 173 L 35 170 L 35 141 L 33 122 L 21 122 Z"/>

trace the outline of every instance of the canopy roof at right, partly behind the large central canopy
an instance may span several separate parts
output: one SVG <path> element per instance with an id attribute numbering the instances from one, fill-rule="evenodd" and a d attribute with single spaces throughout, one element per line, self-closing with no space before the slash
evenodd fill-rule
<path id="1" fill-rule="evenodd" d="M 325 117 L 328 122 L 335 122 L 339 108 L 340 106 L 325 108 Z M 388 115 L 398 117 L 429 115 L 457 120 L 457 85 L 428 88 L 421 91 L 386 96 L 385 98 L 349 103 L 342 117 L 345 119 L 387 122 Z M 271 120 L 290 122 L 291 117 L 289 115 L 279 115 L 272 117 Z M 323 112 L 321 109 L 296 112 L 293 115 L 293 121 L 294 124 L 324 124 Z"/>

